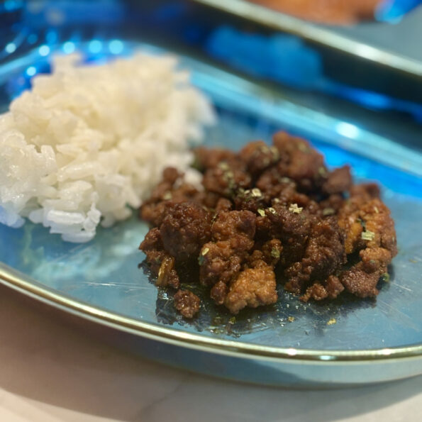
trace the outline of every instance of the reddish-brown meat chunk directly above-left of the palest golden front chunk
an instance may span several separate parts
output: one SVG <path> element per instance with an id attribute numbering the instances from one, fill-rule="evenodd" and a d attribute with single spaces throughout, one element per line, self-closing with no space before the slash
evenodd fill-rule
<path id="1" fill-rule="evenodd" d="M 250 211 L 218 213 L 211 228 L 213 241 L 206 243 L 199 255 L 201 284 L 228 283 L 236 277 L 253 247 L 255 221 Z"/>

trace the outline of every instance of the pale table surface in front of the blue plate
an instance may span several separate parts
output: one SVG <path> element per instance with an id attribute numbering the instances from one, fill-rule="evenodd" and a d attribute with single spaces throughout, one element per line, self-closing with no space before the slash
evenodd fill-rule
<path id="1" fill-rule="evenodd" d="M 0 286 L 0 421 L 422 421 L 422 377 L 289 391 L 174 370 Z"/>

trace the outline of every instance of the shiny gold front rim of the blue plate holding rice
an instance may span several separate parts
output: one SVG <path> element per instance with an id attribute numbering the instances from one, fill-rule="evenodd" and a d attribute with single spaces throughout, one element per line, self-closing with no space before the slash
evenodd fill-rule
<path id="1" fill-rule="evenodd" d="M 172 343 L 185 348 L 201 349 L 222 355 L 253 357 L 255 359 L 290 360 L 293 362 L 365 362 L 392 361 L 405 358 L 421 358 L 422 343 L 394 348 L 360 350 L 316 350 L 301 348 L 281 348 L 241 341 L 212 338 L 205 335 L 187 333 L 137 320 L 119 313 L 77 301 L 54 289 L 41 287 L 36 280 L 0 262 L 0 283 L 26 294 L 50 306 L 81 316 L 102 325 L 126 331 L 140 337 L 164 343 Z"/>

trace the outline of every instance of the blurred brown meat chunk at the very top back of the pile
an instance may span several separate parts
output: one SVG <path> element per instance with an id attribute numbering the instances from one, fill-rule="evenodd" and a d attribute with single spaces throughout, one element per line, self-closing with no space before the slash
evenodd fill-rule
<path id="1" fill-rule="evenodd" d="M 323 156 L 309 143 L 285 132 L 274 135 L 274 146 L 279 150 L 277 170 L 282 177 L 296 182 L 298 190 L 310 192 L 320 189 L 328 175 Z"/>

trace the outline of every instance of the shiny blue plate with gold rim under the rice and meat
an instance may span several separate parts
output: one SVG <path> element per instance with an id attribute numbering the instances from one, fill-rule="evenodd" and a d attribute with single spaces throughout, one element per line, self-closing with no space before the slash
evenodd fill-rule
<path id="1" fill-rule="evenodd" d="M 32 60 L 28 55 L 3 67 L 3 87 L 14 87 Z M 139 266 L 145 255 L 138 245 L 148 226 L 135 213 L 113 228 L 100 228 L 94 240 L 81 245 L 65 243 L 32 223 L 19 229 L 0 226 L 0 281 L 65 311 L 158 342 L 155 358 L 190 370 L 296 386 L 421 374 L 421 155 L 204 63 L 185 57 L 182 66 L 218 111 L 207 145 L 238 149 L 248 140 L 270 141 L 284 129 L 309 138 L 328 165 L 349 163 L 355 179 L 379 181 L 396 221 L 399 254 L 390 281 L 380 282 L 377 299 L 302 304 L 280 287 L 274 306 L 232 318 L 205 301 L 200 316 L 185 321 L 174 312 L 170 294 L 157 291 Z M 17 91 L 9 89 L 11 96 Z"/>

